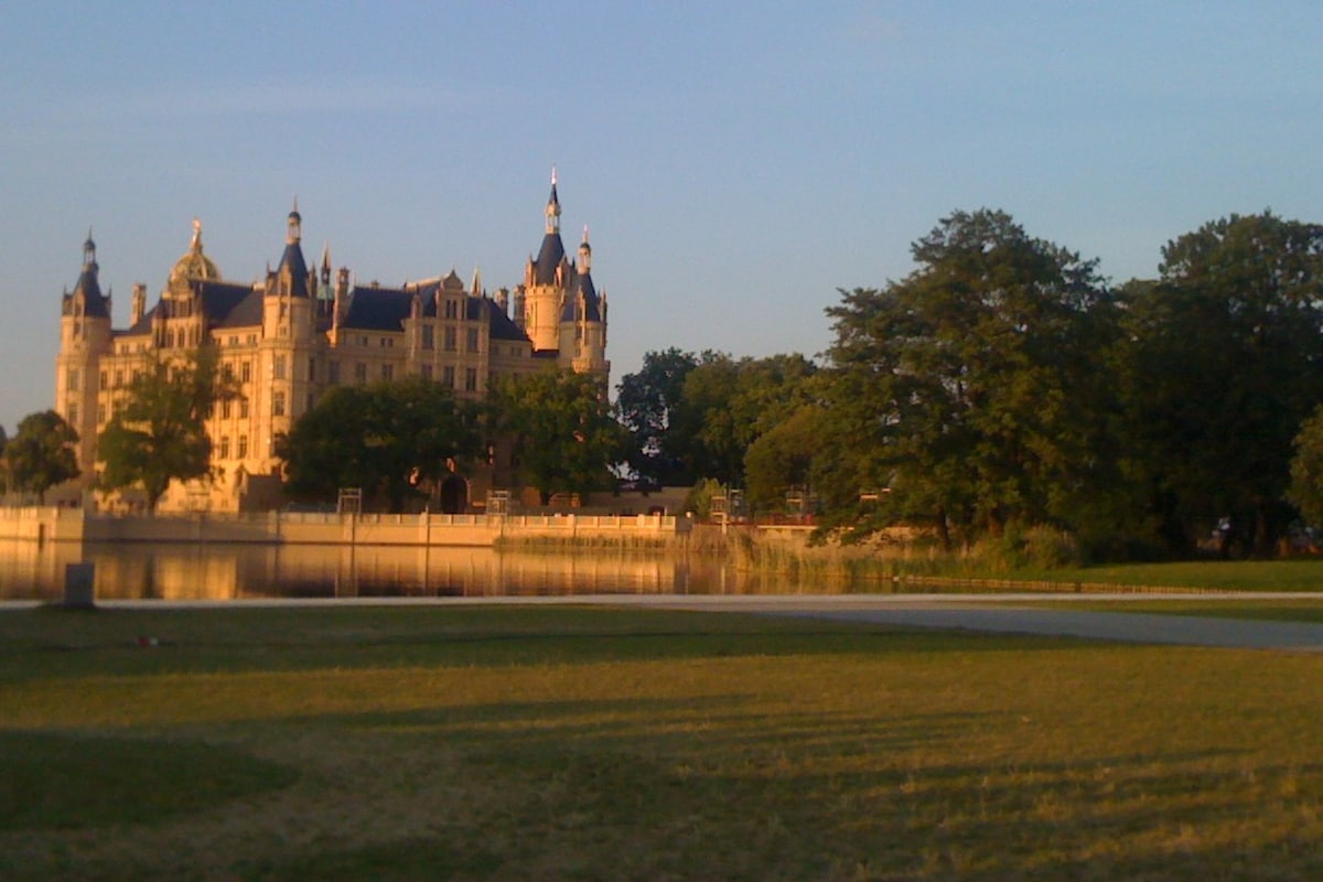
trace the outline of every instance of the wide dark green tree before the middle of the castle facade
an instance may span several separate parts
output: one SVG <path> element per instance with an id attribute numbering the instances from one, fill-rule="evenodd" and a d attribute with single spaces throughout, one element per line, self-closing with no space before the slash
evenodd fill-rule
<path id="1" fill-rule="evenodd" d="M 478 409 L 423 380 L 336 386 L 277 439 L 294 496 L 357 487 L 393 512 L 480 451 Z"/>

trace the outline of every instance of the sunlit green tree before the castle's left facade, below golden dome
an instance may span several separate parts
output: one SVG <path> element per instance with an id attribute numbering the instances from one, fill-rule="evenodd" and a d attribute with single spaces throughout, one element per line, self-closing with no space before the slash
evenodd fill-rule
<path id="1" fill-rule="evenodd" d="M 172 480 L 210 473 L 206 419 L 233 389 L 217 370 L 217 353 L 202 346 L 181 360 L 157 360 L 134 377 L 115 415 L 97 439 L 101 487 L 140 487 L 148 510 Z"/>

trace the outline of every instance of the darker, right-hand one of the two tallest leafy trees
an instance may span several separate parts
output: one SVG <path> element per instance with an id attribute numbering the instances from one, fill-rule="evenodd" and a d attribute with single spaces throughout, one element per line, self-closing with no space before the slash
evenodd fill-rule
<path id="1" fill-rule="evenodd" d="M 1224 551 L 1271 553 L 1323 399 L 1323 226 L 1265 212 L 1181 235 L 1127 325 L 1127 444 L 1168 542 L 1228 518 Z"/>

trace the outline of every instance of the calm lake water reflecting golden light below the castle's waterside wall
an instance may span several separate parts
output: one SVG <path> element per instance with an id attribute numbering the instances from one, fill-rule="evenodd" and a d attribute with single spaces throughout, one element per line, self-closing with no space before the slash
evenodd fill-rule
<path id="1" fill-rule="evenodd" d="M 98 599 L 534 596 L 839 591 L 664 551 L 0 540 L 0 600 L 60 600 L 65 566 L 95 567 Z"/>

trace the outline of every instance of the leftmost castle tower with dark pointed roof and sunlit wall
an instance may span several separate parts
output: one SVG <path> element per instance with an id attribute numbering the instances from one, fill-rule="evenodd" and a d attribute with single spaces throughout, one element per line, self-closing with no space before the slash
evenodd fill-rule
<path id="1" fill-rule="evenodd" d="M 56 357 L 56 413 L 78 432 L 78 468 L 90 480 L 97 450 L 97 391 L 101 357 L 110 352 L 110 294 L 97 276 L 97 243 L 87 231 L 82 272 L 61 298 L 60 354 Z"/>

